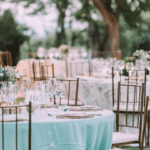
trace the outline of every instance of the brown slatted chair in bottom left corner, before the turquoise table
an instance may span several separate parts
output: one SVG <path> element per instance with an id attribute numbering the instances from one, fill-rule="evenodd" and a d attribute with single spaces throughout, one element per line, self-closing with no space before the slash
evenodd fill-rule
<path id="1" fill-rule="evenodd" d="M 15 147 L 16 147 L 16 150 L 18 149 L 18 122 L 20 121 L 24 121 L 24 119 L 19 119 L 18 118 L 18 109 L 19 108 L 22 108 L 22 107 L 28 107 L 29 109 L 29 117 L 28 117 L 28 150 L 31 150 L 31 102 L 29 102 L 28 105 L 20 105 L 20 106 L 1 106 L 0 109 L 2 110 L 2 120 L 0 120 L 1 124 L 2 124 L 2 130 L 0 131 L 1 132 L 1 135 L 2 135 L 2 143 L 1 143 L 1 148 L 2 150 L 5 150 L 5 139 L 4 139 L 4 136 L 5 136 L 5 126 L 7 126 L 6 123 L 9 123 L 9 122 L 12 122 L 12 121 L 9 121 L 9 120 L 5 120 L 5 117 L 6 115 L 4 116 L 4 112 L 5 112 L 5 109 L 13 109 L 15 110 L 15 130 L 16 130 L 16 135 L 15 135 Z M 13 120 L 14 122 L 14 120 Z M 13 138 L 12 138 L 13 140 Z"/>

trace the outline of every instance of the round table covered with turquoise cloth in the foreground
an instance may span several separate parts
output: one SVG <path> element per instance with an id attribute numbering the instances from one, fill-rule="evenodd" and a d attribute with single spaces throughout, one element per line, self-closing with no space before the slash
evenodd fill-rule
<path id="1" fill-rule="evenodd" d="M 64 112 L 56 113 L 62 114 Z M 56 114 L 43 117 L 33 114 L 32 150 L 110 149 L 114 122 L 113 112 L 110 110 L 101 110 L 86 113 L 101 114 L 101 116 L 94 115 L 93 118 L 86 119 L 58 119 L 56 118 Z M 4 130 L 5 150 L 15 150 L 15 123 L 5 122 Z M 0 135 L 1 132 L 2 128 L 0 123 Z M 2 144 L 1 138 L 0 136 L 0 145 Z M 27 121 L 18 122 L 18 149 L 28 149 Z"/>

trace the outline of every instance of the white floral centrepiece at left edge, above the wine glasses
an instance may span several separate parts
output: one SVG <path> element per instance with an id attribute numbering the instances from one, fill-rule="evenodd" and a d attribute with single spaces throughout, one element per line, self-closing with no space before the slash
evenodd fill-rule
<path id="1" fill-rule="evenodd" d="M 1 78 L 2 81 L 12 81 L 13 83 L 16 82 L 16 78 L 20 78 L 21 74 L 16 71 L 13 67 L 7 66 L 1 68 Z"/>

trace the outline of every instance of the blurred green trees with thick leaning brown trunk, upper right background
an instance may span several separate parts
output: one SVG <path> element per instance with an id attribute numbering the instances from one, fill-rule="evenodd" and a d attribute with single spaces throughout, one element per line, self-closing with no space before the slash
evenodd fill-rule
<path id="1" fill-rule="evenodd" d="M 25 0 L 26 8 L 37 4 L 37 8 L 30 15 L 48 14 L 48 6 L 55 6 L 58 12 L 57 28 L 53 44 L 46 42 L 46 47 L 71 43 L 72 46 L 84 45 L 97 52 L 113 52 L 121 49 L 124 56 L 129 55 L 134 49 L 149 45 L 149 22 L 144 19 L 144 13 L 150 10 L 148 0 L 76 0 L 81 7 L 74 10 L 71 0 Z M 11 2 L 22 2 L 12 0 Z M 96 8 L 95 8 L 96 6 Z M 70 26 L 76 21 L 87 23 L 84 29 L 74 30 L 66 24 L 66 11 L 70 10 Z M 99 13 L 100 12 L 100 13 Z M 103 18 L 103 19 L 102 19 Z M 72 22 L 72 23 L 71 23 Z M 49 29 L 50 30 L 50 29 Z M 141 36 L 142 35 L 142 36 Z M 71 40 L 71 41 L 69 41 Z M 147 43 L 148 42 L 148 43 Z M 146 46 L 145 49 L 148 49 Z M 124 52 L 124 51 L 128 52 Z M 113 54 L 115 57 L 116 54 Z"/>

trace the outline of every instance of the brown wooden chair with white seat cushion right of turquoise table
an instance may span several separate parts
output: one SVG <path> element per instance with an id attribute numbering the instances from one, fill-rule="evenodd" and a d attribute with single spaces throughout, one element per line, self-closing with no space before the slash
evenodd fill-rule
<path id="1" fill-rule="evenodd" d="M 126 88 L 126 90 L 122 90 Z M 131 95 L 130 90 L 134 93 Z M 126 99 L 125 96 L 126 95 Z M 112 147 L 138 143 L 143 150 L 146 143 L 146 118 L 149 97 L 145 100 L 145 84 L 118 83 L 118 98 L 116 112 L 116 132 L 113 133 Z M 123 115 L 125 118 L 123 118 Z M 122 120 L 121 120 L 122 119 Z M 120 130 L 126 128 L 136 130 L 136 133 L 123 133 Z"/>

